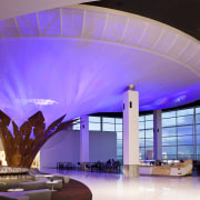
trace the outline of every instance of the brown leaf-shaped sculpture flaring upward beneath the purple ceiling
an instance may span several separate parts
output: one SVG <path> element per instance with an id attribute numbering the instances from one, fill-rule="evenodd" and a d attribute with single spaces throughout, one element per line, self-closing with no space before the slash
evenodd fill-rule
<path id="1" fill-rule="evenodd" d="M 76 120 L 62 122 L 62 116 L 47 129 L 41 111 L 31 116 L 28 121 L 18 128 L 12 121 L 13 134 L 8 129 L 11 119 L 0 110 L 0 134 L 9 167 L 30 168 L 34 157 L 46 141 L 62 128 L 72 126 Z"/>

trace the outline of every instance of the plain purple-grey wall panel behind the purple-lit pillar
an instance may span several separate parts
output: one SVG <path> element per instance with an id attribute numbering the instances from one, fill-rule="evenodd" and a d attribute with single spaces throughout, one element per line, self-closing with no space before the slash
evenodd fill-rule
<path id="1" fill-rule="evenodd" d="M 89 160 L 107 161 L 109 158 L 117 159 L 116 132 L 90 131 Z M 40 150 L 40 167 L 56 168 L 57 162 L 80 161 L 80 131 L 63 130 L 53 136 Z"/>

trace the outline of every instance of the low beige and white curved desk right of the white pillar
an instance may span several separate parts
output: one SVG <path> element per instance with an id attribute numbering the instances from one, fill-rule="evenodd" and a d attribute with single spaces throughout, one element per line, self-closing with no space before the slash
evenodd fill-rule
<path id="1" fill-rule="evenodd" d="M 177 166 L 140 166 L 140 174 L 181 177 L 192 173 L 192 160 L 187 160 Z"/>

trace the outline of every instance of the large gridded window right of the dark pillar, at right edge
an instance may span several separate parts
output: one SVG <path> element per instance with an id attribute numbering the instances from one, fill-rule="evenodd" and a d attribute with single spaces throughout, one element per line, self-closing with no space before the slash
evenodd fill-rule
<path id="1" fill-rule="evenodd" d="M 199 110 L 162 112 L 162 159 L 199 159 Z"/>

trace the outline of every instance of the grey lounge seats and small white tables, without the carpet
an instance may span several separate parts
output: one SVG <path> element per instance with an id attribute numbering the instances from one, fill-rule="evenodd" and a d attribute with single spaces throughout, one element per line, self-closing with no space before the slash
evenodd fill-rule
<path id="1" fill-rule="evenodd" d="M 0 182 L 0 199 L 10 200 L 50 200 L 51 192 L 62 189 L 69 183 L 69 176 L 42 173 L 31 168 L 29 179 L 4 179 Z"/>

